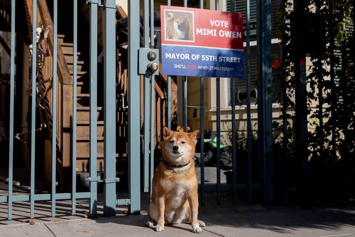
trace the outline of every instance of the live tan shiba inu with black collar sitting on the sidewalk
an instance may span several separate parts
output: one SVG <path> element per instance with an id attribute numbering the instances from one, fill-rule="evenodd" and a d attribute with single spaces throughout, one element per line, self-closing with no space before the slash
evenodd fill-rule
<path id="1" fill-rule="evenodd" d="M 198 130 L 191 133 L 171 131 L 165 127 L 166 138 L 162 145 L 163 158 L 155 169 L 152 197 L 146 226 L 157 223 L 156 231 L 164 224 L 180 224 L 188 220 L 192 232 L 202 233 L 205 224 L 197 220 L 198 196 L 194 140 Z"/>

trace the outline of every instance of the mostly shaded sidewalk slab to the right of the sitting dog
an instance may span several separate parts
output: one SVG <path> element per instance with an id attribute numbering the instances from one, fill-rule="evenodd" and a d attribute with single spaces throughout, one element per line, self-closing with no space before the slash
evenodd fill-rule
<path id="1" fill-rule="evenodd" d="M 346 216 L 345 216 L 346 215 Z M 200 211 L 206 229 L 235 236 L 355 236 L 355 210 L 302 210 L 297 208 L 233 208 Z"/>

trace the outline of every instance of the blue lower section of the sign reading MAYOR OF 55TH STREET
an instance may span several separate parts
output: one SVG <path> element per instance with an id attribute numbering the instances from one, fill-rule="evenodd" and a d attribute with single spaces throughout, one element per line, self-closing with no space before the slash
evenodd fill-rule
<path id="1" fill-rule="evenodd" d="M 244 79 L 243 50 L 162 45 L 162 64 L 164 75 Z"/>

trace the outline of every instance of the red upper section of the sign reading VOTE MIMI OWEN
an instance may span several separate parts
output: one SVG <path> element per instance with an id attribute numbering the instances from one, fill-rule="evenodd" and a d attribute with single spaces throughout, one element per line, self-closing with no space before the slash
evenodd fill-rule
<path id="1" fill-rule="evenodd" d="M 189 7 L 160 6 L 160 17 L 162 44 L 243 49 L 242 14 Z M 185 19 L 188 27 L 186 27 L 186 22 L 185 27 L 177 26 L 179 20 L 181 23 Z"/>

